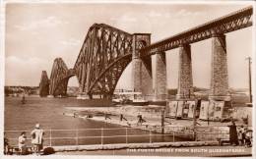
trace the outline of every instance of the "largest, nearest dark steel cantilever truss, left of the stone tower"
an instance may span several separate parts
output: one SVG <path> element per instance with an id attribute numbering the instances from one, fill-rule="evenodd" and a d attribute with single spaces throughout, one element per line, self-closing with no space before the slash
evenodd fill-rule
<path id="1" fill-rule="evenodd" d="M 132 34 L 104 24 L 90 27 L 74 66 L 81 90 L 111 96 L 132 60 Z"/>

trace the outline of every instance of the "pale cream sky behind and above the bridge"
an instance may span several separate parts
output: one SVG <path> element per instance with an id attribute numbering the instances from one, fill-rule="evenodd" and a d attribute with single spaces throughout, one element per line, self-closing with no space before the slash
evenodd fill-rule
<path id="1" fill-rule="evenodd" d="M 55 58 L 73 68 L 89 27 L 107 24 L 129 33 L 152 33 L 152 42 L 249 6 L 249 4 L 72 4 L 8 3 L 5 30 L 5 85 L 39 84 L 50 77 Z M 252 54 L 252 27 L 226 34 L 230 87 L 248 87 L 246 57 Z M 195 86 L 210 87 L 211 39 L 191 45 Z M 155 57 L 153 56 L 153 68 Z M 167 87 L 177 87 L 178 49 L 166 51 Z M 118 88 L 132 87 L 131 65 Z M 153 69 L 154 73 L 155 70 Z M 69 86 L 78 86 L 70 79 Z"/>

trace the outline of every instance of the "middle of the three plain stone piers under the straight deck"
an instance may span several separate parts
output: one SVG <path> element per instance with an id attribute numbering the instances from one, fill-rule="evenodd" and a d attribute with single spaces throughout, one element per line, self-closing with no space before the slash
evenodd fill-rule
<path id="1" fill-rule="evenodd" d="M 194 98 L 191 46 L 189 44 L 184 44 L 179 47 L 178 89 L 176 99 L 191 98 Z"/>

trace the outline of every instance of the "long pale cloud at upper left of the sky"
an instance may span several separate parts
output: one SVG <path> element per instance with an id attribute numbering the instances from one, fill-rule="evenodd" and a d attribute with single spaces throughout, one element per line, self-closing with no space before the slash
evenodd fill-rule
<path id="1" fill-rule="evenodd" d="M 39 20 L 39 21 L 33 21 L 28 24 L 23 25 L 16 25 L 15 27 L 20 30 L 32 30 L 32 29 L 38 29 L 42 27 L 56 27 L 62 24 L 68 24 L 68 22 L 61 21 L 58 18 L 54 16 L 49 16 L 46 19 Z"/>

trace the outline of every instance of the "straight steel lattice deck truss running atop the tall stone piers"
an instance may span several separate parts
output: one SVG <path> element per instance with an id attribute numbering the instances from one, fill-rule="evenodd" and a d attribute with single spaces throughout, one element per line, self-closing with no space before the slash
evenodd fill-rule
<path id="1" fill-rule="evenodd" d="M 174 49 L 184 44 L 202 41 L 211 38 L 215 34 L 224 34 L 244 27 L 251 27 L 252 13 L 252 7 L 247 7 L 201 26 L 193 27 L 141 49 L 141 57 Z"/>

